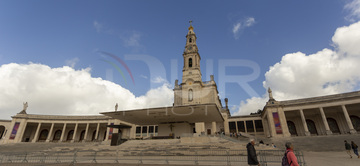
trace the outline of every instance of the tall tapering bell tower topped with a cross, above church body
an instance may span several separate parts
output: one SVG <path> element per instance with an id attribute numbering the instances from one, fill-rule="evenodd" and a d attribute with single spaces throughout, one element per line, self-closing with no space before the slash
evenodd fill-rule
<path id="1" fill-rule="evenodd" d="M 200 71 L 200 54 L 198 52 L 198 47 L 196 45 L 196 35 L 194 32 L 194 27 L 190 22 L 189 31 L 186 35 L 186 45 L 183 53 L 184 57 L 184 67 L 183 67 L 183 77 L 182 82 L 186 82 L 188 79 L 193 81 L 201 81 L 201 71 Z"/>

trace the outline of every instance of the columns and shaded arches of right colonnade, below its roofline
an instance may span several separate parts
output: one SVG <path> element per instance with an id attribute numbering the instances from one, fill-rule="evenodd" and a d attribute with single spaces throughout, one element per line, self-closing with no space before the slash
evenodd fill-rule
<path id="1" fill-rule="evenodd" d="M 356 107 L 352 108 L 356 109 Z M 360 110 L 353 109 L 351 115 L 360 119 Z M 354 122 L 351 121 L 351 118 L 349 116 L 346 104 L 333 104 L 329 106 L 329 104 L 326 103 L 319 104 L 313 107 L 302 105 L 299 106 L 298 109 L 294 109 L 294 107 L 290 106 L 287 107 L 286 105 L 283 105 L 282 107 L 270 107 L 266 110 L 266 113 L 263 116 L 263 120 L 264 122 L 266 122 L 266 126 L 264 126 L 264 128 L 266 129 L 266 135 L 272 137 L 286 137 L 294 135 L 293 133 L 296 129 L 300 131 L 300 135 L 305 136 L 310 136 L 312 134 L 332 135 L 332 130 L 334 130 L 334 123 L 337 128 L 339 128 L 338 124 L 340 124 L 341 129 L 338 129 L 339 134 L 357 133 L 356 129 L 354 128 Z M 299 126 L 295 125 L 295 121 Z M 332 122 L 332 126 L 329 125 L 330 122 Z M 298 132 L 296 133 L 296 135 L 299 134 Z"/>

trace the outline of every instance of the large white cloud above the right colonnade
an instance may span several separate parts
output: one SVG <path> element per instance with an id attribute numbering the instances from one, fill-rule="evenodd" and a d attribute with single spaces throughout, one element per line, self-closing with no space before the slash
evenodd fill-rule
<path id="1" fill-rule="evenodd" d="M 332 41 L 334 49 L 284 55 L 265 73 L 264 88 L 271 87 L 274 98 L 280 101 L 359 90 L 360 22 L 338 28 Z M 265 93 L 242 101 L 235 114 L 248 115 L 262 109 L 267 100 Z"/>

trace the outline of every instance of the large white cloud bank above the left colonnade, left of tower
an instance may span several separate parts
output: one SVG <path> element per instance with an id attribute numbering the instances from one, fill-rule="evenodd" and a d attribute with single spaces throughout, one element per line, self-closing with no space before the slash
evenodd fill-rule
<path id="1" fill-rule="evenodd" d="M 95 115 L 99 112 L 170 106 L 173 90 L 167 85 L 136 97 L 110 81 L 91 77 L 91 69 L 68 66 L 50 68 L 42 64 L 0 66 L 0 117 L 10 119 L 27 101 L 29 114 Z"/>

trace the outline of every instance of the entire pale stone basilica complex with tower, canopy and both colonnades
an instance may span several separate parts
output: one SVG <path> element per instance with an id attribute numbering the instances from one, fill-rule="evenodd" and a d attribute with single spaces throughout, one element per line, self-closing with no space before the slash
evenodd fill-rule
<path id="1" fill-rule="evenodd" d="M 169 139 L 241 133 L 248 137 L 297 137 L 360 132 L 360 91 L 277 101 L 258 114 L 232 116 L 219 98 L 214 76 L 203 81 L 196 34 L 190 25 L 181 83 L 175 80 L 171 107 L 102 111 L 97 116 L 34 115 L 24 109 L 0 120 L 0 144 L 18 142 L 104 142 Z"/>

